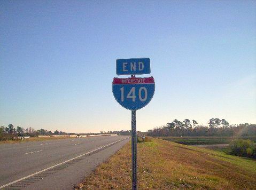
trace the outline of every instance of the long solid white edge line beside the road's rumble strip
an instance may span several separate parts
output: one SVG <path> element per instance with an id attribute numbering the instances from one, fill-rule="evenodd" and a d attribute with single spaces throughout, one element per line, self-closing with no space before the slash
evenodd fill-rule
<path id="1" fill-rule="evenodd" d="M 130 138 L 130 137 L 128 137 L 128 138 Z M 125 139 L 128 139 L 128 138 L 125 138 Z M 125 139 L 121 139 L 121 140 L 125 140 Z M 121 141 L 121 140 L 115 141 L 114 143 L 118 143 L 118 142 Z M 8 183 L 8 184 L 2 185 L 2 186 L 0 187 L 0 189 L 2 189 L 2 188 L 4 188 L 4 187 L 7 187 L 7 186 L 9 186 L 9 185 L 15 184 L 15 183 L 17 183 L 17 182 L 19 182 L 19 181 L 21 181 L 21 180 L 24 180 L 24 179 L 30 178 L 30 177 L 32 177 L 32 176 L 35 176 L 35 175 L 37 175 L 38 173 L 42 173 L 43 171 L 50 170 L 50 169 L 52 169 L 52 168 L 54 168 L 54 167 L 57 167 L 58 165 L 61 165 L 61 164 L 64 164 L 64 163 L 66 163 L 66 162 L 69 162 L 69 161 L 72 161 L 72 160 L 74 160 L 74 159 L 77 159 L 78 157 L 81 157 L 81 156 L 90 154 L 90 153 L 92 153 L 92 152 L 95 152 L 95 151 L 97 151 L 97 150 L 100 149 L 100 148 L 104 148 L 104 147 L 106 147 L 106 146 L 110 146 L 110 145 L 112 145 L 112 144 L 114 144 L 114 143 L 111 143 L 111 144 L 108 144 L 108 145 L 99 147 L 99 148 L 94 149 L 93 151 L 90 151 L 90 152 L 88 152 L 88 153 L 84 153 L 84 154 L 81 154 L 81 155 L 79 155 L 79 156 L 73 157 L 73 159 L 66 160 L 66 161 L 64 161 L 64 162 L 58 163 L 58 164 L 56 164 L 56 165 L 53 165 L 53 166 L 51 166 L 51 167 L 49 167 L 49 168 L 45 168 L 45 169 L 43 169 L 43 170 L 41 170 L 41 171 L 37 171 L 37 172 L 35 172 L 35 173 L 32 173 L 32 174 L 30 174 L 30 175 L 28 175 L 28 176 L 26 176 L 26 177 L 23 177 L 23 178 L 20 178 L 20 179 L 15 180 L 15 181 L 12 181 L 12 182 L 10 182 L 10 183 Z"/>

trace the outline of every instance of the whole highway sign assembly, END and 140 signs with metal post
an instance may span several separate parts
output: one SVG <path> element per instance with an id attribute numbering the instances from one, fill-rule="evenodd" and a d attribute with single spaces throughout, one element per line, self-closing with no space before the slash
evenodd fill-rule
<path id="1" fill-rule="evenodd" d="M 112 91 L 115 100 L 131 110 L 131 156 L 132 189 L 137 190 L 137 132 L 136 110 L 149 104 L 154 95 L 154 78 L 137 78 L 135 75 L 150 74 L 150 59 L 117 59 L 117 75 L 131 75 L 130 78 L 114 77 Z"/>

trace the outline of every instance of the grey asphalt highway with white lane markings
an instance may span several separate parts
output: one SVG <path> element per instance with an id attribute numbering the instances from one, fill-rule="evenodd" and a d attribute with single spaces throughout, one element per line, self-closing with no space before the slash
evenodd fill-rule
<path id="1" fill-rule="evenodd" d="M 0 145 L 0 188 L 72 189 L 129 139 L 102 136 Z"/>

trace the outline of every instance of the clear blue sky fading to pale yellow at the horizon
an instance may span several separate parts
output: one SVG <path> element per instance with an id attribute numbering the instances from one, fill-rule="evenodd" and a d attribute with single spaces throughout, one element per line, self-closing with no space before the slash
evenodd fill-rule
<path id="1" fill-rule="evenodd" d="M 0 125 L 130 130 L 112 94 L 121 58 L 151 60 L 137 131 L 256 123 L 255 1 L 1 1 L 0 24 Z"/>

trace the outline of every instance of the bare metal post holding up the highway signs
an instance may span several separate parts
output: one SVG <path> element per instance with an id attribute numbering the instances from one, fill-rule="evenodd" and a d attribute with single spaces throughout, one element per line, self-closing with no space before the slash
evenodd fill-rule
<path id="1" fill-rule="evenodd" d="M 135 77 L 135 75 L 131 75 Z M 132 189 L 137 190 L 137 131 L 136 110 L 131 111 L 131 157 L 132 157 Z"/>

